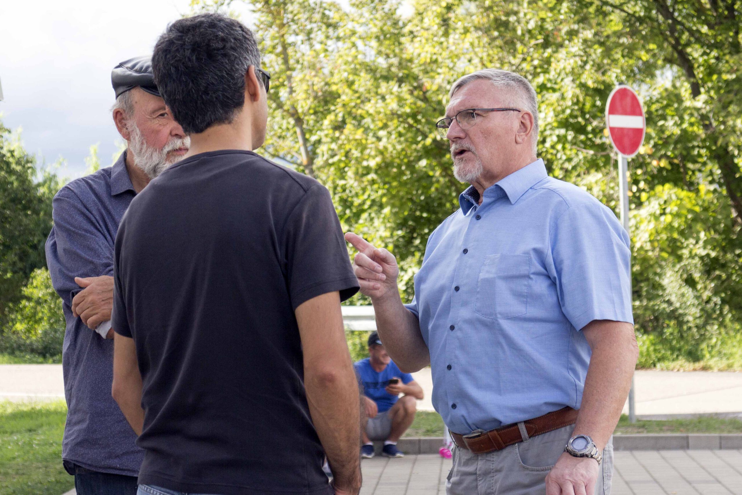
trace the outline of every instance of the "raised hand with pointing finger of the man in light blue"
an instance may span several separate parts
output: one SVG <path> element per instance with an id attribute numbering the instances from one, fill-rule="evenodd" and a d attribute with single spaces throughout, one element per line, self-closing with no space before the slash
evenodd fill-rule
<path id="1" fill-rule="evenodd" d="M 353 271 L 361 286 L 361 294 L 382 299 L 398 294 L 399 267 L 392 253 L 377 249 L 360 235 L 348 232 L 345 240 L 358 250 L 353 260 Z"/>

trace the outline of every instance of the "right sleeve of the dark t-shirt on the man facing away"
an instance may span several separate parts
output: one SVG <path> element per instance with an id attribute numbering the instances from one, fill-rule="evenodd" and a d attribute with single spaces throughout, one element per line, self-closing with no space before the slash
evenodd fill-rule
<path id="1" fill-rule="evenodd" d="M 327 292 L 345 301 L 358 292 L 343 231 L 329 191 L 312 186 L 286 223 L 286 276 L 292 307 Z"/>

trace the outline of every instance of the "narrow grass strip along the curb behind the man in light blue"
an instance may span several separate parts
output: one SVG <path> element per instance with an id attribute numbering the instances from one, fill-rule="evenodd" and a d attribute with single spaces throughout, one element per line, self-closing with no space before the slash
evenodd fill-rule
<path id="1" fill-rule="evenodd" d="M 742 433 L 742 420 L 699 416 L 693 419 L 637 421 L 631 424 L 628 416 L 622 415 L 615 434 L 636 433 Z M 438 413 L 418 411 L 413 425 L 404 436 L 443 436 L 443 420 Z"/>

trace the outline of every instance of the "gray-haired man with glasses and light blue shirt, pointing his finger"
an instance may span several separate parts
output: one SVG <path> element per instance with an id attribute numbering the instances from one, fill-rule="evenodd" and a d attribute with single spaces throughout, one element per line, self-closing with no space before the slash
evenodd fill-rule
<path id="1" fill-rule="evenodd" d="M 608 493 L 638 354 L 628 235 L 536 159 L 526 79 L 464 76 L 446 116 L 436 127 L 471 186 L 430 235 L 413 301 L 401 302 L 390 252 L 346 238 L 387 351 L 406 372 L 430 364 L 457 446 L 447 493 Z"/>

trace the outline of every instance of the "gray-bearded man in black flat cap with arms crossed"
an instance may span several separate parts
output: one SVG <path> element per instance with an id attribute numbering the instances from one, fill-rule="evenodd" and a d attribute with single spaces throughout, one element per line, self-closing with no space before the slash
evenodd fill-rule
<path id="1" fill-rule="evenodd" d="M 127 149 L 116 163 L 73 180 L 53 200 L 47 265 L 62 298 L 68 404 L 62 459 L 78 495 L 137 493 L 143 452 L 111 397 L 114 341 L 114 240 L 134 196 L 190 144 L 157 91 L 149 56 L 116 65 L 112 109 Z"/>

